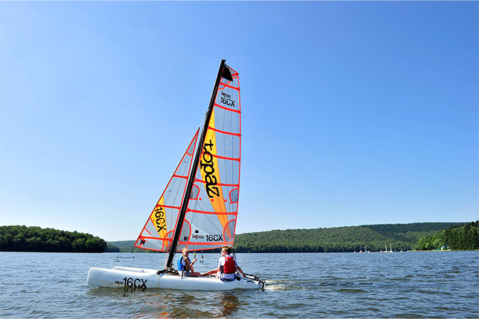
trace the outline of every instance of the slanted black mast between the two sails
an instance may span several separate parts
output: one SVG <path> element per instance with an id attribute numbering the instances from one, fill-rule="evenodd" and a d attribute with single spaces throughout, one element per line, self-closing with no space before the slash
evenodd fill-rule
<path id="1" fill-rule="evenodd" d="M 213 113 L 214 101 L 216 99 L 216 94 L 218 93 L 218 86 L 219 86 L 219 82 L 221 81 L 221 75 L 223 74 L 225 65 L 226 65 L 226 60 L 221 60 L 221 63 L 219 65 L 219 69 L 218 69 L 218 75 L 216 76 L 216 82 L 214 83 L 213 93 L 211 94 L 211 99 L 209 101 L 209 108 L 208 108 L 208 111 L 207 111 L 207 116 L 204 119 L 202 135 L 199 138 L 197 152 L 194 155 L 192 171 L 189 174 L 188 184 L 187 184 L 187 188 L 185 190 L 185 197 L 183 198 L 180 214 L 178 215 L 178 222 L 177 222 L 176 227 L 175 227 L 175 233 L 173 233 L 173 239 L 172 239 L 172 242 L 171 242 L 171 245 L 170 245 L 170 250 L 168 250 L 168 258 L 167 258 L 167 261 L 166 261 L 166 264 L 165 264 L 165 269 L 170 269 L 171 264 L 173 262 L 173 258 L 175 257 L 175 252 L 176 252 L 176 248 L 177 248 L 177 245 L 178 245 L 178 240 L 180 239 L 180 233 L 181 233 L 181 230 L 182 230 L 183 221 L 185 220 L 185 215 L 186 215 L 186 211 L 187 211 L 187 208 L 188 208 L 189 195 L 191 194 L 191 191 L 192 191 L 192 188 L 193 188 L 194 177 L 197 174 L 199 157 L 202 154 L 204 137 L 207 135 L 207 128 L 208 128 L 209 120 L 211 118 L 211 113 Z"/>

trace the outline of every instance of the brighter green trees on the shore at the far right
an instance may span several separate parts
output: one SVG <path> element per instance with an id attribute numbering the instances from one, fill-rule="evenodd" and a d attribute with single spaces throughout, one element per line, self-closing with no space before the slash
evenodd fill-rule
<path id="1" fill-rule="evenodd" d="M 422 237 L 417 242 L 417 250 L 436 250 L 440 247 L 451 250 L 478 250 L 479 220 L 461 227 L 451 226 L 432 236 Z"/>

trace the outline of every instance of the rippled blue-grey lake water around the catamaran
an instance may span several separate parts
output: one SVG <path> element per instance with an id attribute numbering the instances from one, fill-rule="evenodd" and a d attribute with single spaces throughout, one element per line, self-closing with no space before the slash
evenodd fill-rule
<path id="1" fill-rule="evenodd" d="M 0 252 L 0 318 L 479 317 L 479 252 L 237 257 L 243 271 L 266 279 L 264 291 L 87 284 L 89 267 L 161 268 L 165 254 Z M 197 271 L 215 268 L 219 254 L 204 258 Z"/>

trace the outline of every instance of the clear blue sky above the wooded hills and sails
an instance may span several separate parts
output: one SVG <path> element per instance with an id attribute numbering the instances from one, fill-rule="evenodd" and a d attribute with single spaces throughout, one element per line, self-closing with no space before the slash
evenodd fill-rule
<path id="1" fill-rule="evenodd" d="M 478 2 L 0 2 L 0 225 L 136 239 L 240 73 L 237 233 L 479 218 Z"/>

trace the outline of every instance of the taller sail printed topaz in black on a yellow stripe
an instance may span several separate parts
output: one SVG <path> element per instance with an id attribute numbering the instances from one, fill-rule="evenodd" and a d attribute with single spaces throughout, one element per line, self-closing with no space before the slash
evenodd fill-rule
<path id="1" fill-rule="evenodd" d="M 177 251 L 233 245 L 238 213 L 241 104 L 238 72 L 221 77 Z M 231 77 L 229 77 L 231 73 Z"/>

